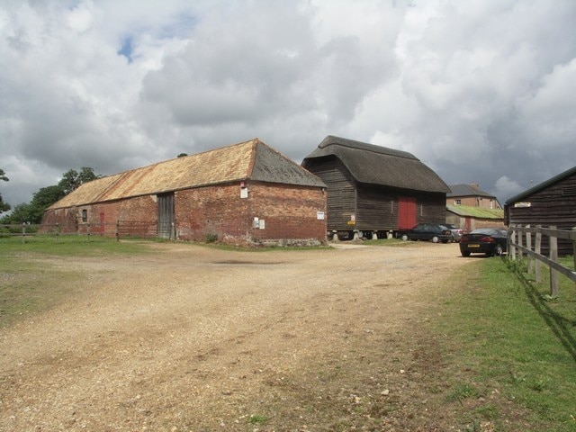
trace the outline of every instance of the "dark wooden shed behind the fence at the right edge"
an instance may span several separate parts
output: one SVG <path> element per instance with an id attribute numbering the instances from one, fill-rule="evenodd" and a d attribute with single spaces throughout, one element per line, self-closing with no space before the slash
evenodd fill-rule
<path id="1" fill-rule="evenodd" d="M 508 225 L 575 228 L 576 166 L 509 198 L 504 204 L 504 215 Z M 573 253 L 569 240 L 559 239 L 558 249 L 563 255 Z"/>

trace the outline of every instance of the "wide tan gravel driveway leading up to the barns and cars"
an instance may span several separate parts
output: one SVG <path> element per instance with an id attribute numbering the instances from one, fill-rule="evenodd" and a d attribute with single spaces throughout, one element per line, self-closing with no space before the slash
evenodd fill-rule
<path id="1" fill-rule="evenodd" d="M 419 323 L 457 244 L 90 261 L 57 309 L 2 330 L 0 430 L 446 430 Z"/>

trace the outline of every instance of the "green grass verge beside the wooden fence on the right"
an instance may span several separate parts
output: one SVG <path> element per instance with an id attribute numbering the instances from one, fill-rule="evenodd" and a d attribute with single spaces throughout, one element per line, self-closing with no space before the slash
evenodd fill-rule
<path id="1" fill-rule="evenodd" d="M 561 276 L 550 301 L 547 281 L 525 271 L 479 259 L 443 290 L 432 326 L 446 335 L 446 401 L 462 430 L 488 421 L 500 431 L 576 431 L 576 287 Z"/>

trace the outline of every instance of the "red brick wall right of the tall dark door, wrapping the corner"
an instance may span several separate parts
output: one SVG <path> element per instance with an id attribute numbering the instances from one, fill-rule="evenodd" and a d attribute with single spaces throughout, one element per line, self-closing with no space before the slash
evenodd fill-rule
<path id="1" fill-rule="evenodd" d="M 253 182 L 247 191 L 247 198 L 239 184 L 178 191 L 176 236 L 202 241 L 216 235 L 232 244 L 326 241 L 326 220 L 317 218 L 326 212 L 326 194 L 319 188 Z M 254 218 L 264 220 L 265 229 L 255 227 Z"/>

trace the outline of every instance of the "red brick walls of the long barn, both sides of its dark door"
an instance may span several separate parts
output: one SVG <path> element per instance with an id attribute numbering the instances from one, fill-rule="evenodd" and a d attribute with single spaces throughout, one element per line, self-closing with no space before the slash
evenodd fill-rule
<path id="1" fill-rule="evenodd" d="M 326 214 L 326 193 L 320 188 L 253 182 L 247 191 L 247 198 L 240 197 L 239 184 L 176 191 L 176 238 L 203 241 L 216 236 L 238 245 L 326 242 L 326 219 L 318 219 L 319 211 Z M 83 210 L 87 222 L 82 220 Z M 255 218 L 264 220 L 264 229 L 255 226 Z M 49 211 L 43 223 L 67 224 L 68 232 L 85 232 L 89 224 L 94 234 L 113 236 L 118 220 L 121 235 L 156 236 L 156 196 Z"/>

